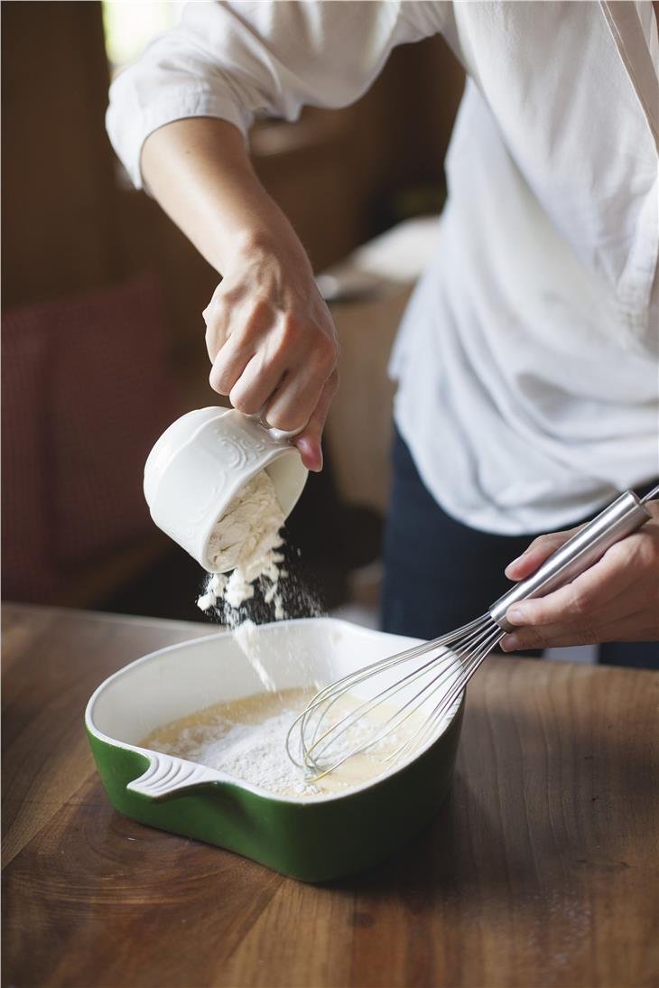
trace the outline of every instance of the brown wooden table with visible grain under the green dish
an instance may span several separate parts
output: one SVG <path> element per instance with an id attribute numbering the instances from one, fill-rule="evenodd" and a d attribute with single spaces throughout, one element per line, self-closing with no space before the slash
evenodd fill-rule
<path id="1" fill-rule="evenodd" d="M 435 822 L 311 886 L 124 819 L 96 777 L 93 689 L 207 624 L 4 618 L 5 984 L 659 984 L 656 673 L 488 660 Z"/>

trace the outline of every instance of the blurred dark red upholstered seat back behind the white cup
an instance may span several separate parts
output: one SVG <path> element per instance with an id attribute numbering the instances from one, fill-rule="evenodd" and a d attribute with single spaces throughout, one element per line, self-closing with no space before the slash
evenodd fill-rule
<path id="1" fill-rule="evenodd" d="M 142 469 L 179 411 L 156 282 L 14 309 L 2 341 L 3 597 L 93 603 L 155 537 Z"/>

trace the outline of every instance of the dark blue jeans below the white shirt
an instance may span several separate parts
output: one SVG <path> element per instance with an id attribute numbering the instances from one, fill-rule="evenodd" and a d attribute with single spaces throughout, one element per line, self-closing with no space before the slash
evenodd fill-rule
<path id="1" fill-rule="evenodd" d="M 490 535 L 456 522 L 424 486 L 398 433 L 392 462 L 381 627 L 436 638 L 487 611 L 511 586 L 505 567 L 542 533 Z M 608 642 L 599 646 L 599 661 L 659 669 L 659 642 Z"/>

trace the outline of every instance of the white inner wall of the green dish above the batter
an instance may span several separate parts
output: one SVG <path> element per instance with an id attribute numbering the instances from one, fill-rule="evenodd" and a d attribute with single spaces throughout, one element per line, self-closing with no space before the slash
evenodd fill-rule
<path id="1" fill-rule="evenodd" d="M 263 624 L 256 633 L 259 661 L 279 690 L 324 686 L 420 643 L 416 638 L 385 634 L 331 617 Z M 383 683 L 393 684 L 400 675 L 394 667 Z M 263 689 L 232 632 L 221 631 L 160 649 L 125 666 L 96 691 L 86 720 L 92 731 L 109 741 L 139 746 L 164 724 L 213 703 L 250 697 Z M 359 688 L 354 692 L 359 695 Z M 409 696 L 403 690 L 396 700 L 404 703 Z M 445 728 L 461 696 L 454 700 Z"/>

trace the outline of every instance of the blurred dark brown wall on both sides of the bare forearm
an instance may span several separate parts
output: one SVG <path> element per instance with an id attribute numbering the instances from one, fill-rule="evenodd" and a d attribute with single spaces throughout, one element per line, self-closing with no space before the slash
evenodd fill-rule
<path id="1" fill-rule="evenodd" d="M 1 13 L 3 305 L 153 267 L 174 339 L 197 339 L 216 277 L 155 204 L 118 182 L 100 3 L 17 0 Z M 441 182 L 461 85 L 433 39 L 395 50 L 354 107 L 255 133 L 257 169 L 316 269 L 368 238 L 374 206 L 395 190 Z"/>

